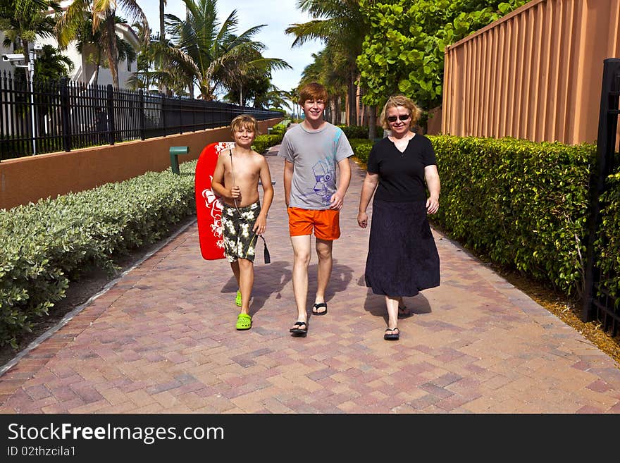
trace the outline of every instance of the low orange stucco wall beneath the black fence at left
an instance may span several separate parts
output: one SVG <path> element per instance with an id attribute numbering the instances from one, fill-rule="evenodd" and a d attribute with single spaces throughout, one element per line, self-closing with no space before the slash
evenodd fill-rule
<path id="1" fill-rule="evenodd" d="M 280 121 L 282 118 L 260 121 L 259 130 L 266 133 L 268 127 Z M 2 161 L 0 209 L 89 190 L 147 171 L 164 171 L 170 167 L 170 147 L 190 147 L 190 154 L 178 157 L 181 163 L 197 159 L 209 143 L 230 140 L 230 129 L 226 127 Z"/>

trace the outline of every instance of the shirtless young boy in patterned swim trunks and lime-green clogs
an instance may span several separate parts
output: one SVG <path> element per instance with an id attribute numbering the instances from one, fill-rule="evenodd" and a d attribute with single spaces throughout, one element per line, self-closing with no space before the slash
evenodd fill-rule
<path id="1" fill-rule="evenodd" d="M 249 300 L 254 285 L 254 254 L 258 235 L 265 233 L 267 212 L 273 199 L 271 173 L 266 159 L 252 150 L 258 123 L 242 114 L 230 123 L 235 147 L 220 153 L 211 187 L 222 197 L 222 231 L 226 258 L 233 268 L 241 294 L 237 330 L 252 328 Z M 259 179 L 263 183 L 263 205 L 259 200 Z"/>

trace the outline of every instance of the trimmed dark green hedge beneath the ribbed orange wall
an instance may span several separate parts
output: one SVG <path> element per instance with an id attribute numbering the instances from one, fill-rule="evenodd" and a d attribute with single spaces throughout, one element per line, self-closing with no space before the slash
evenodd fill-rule
<path id="1" fill-rule="evenodd" d="M 581 290 L 592 144 L 429 136 L 442 193 L 434 221 L 492 261 Z"/>

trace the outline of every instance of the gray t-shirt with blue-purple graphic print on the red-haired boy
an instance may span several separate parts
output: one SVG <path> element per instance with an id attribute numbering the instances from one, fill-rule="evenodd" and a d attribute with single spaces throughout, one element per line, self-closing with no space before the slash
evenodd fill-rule
<path id="1" fill-rule="evenodd" d="M 353 155 L 347 135 L 325 122 L 316 132 L 303 123 L 287 130 L 278 156 L 294 164 L 289 206 L 329 209 L 336 192 L 336 164 Z"/>

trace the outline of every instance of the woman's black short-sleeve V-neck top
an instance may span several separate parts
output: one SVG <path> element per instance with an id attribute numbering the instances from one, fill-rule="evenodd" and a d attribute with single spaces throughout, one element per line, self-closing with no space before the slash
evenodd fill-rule
<path id="1" fill-rule="evenodd" d="M 368 155 L 369 173 L 379 175 L 375 199 L 387 202 L 426 200 L 424 168 L 437 164 L 433 145 L 424 135 L 416 134 L 407 149 L 399 152 L 385 137 L 376 142 Z"/>

